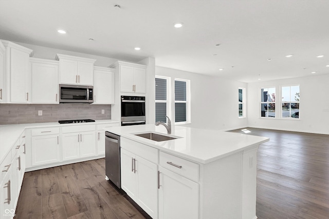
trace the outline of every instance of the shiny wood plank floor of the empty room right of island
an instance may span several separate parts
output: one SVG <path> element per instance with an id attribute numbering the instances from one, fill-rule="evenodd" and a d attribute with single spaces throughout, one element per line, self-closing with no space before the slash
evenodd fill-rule
<path id="1" fill-rule="evenodd" d="M 329 135 L 246 129 L 270 138 L 257 154 L 258 218 L 328 219 Z"/>

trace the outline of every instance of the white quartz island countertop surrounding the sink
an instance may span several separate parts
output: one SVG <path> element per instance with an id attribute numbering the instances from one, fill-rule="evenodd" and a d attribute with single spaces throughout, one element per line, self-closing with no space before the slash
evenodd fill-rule
<path id="1" fill-rule="evenodd" d="M 269 141 L 267 137 L 174 125 L 172 126 L 172 134 L 169 136 L 179 138 L 159 142 L 134 134 L 155 132 L 168 135 L 163 125 L 147 124 L 106 127 L 105 131 L 149 145 L 160 151 L 169 152 L 204 164 Z"/>

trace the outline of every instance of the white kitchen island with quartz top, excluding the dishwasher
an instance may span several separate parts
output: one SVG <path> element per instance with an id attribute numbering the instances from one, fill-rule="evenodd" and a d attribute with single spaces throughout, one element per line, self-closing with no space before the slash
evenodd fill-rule
<path id="1" fill-rule="evenodd" d="M 154 124 L 108 127 L 121 136 L 122 189 L 152 218 L 257 218 L 257 150 L 269 140 Z M 176 139 L 137 136 L 157 133 Z"/>

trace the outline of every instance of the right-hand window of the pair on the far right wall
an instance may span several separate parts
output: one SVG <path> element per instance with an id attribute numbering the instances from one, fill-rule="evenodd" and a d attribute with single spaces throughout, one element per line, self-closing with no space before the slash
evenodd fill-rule
<path id="1" fill-rule="evenodd" d="M 282 86 L 282 118 L 299 118 L 299 85 Z"/>

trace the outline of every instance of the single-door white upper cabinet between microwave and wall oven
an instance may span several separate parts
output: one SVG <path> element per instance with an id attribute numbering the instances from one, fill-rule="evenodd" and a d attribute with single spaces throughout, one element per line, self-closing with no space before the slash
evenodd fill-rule
<path id="1" fill-rule="evenodd" d="M 114 103 L 113 68 L 94 67 L 94 104 Z"/>

